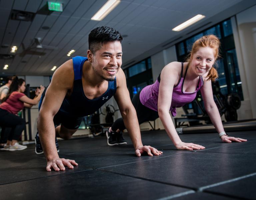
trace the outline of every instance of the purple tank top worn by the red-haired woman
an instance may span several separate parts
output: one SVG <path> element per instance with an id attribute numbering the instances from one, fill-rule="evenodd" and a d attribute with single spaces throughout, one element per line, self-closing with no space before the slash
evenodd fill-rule
<path id="1" fill-rule="evenodd" d="M 188 67 L 187 67 L 188 69 Z M 196 91 L 194 92 L 183 92 L 183 84 L 187 74 L 187 69 L 184 74 L 184 78 L 182 77 L 183 74 L 183 63 L 181 63 L 181 75 L 178 85 L 174 86 L 172 92 L 172 103 L 170 107 L 170 111 L 172 116 L 176 116 L 176 108 L 182 107 L 187 103 L 192 102 L 196 98 L 196 93 L 198 90 L 201 89 L 203 86 L 203 78 L 202 76 L 199 77 L 199 81 L 197 84 Z M 161 75 L 161 74 L 160 74 Z M 154 111 L 158 111 L 157 109 L 157 102 L 158 102 L 158 92 L 159 92 L 159 84 L 160 84 L 160 75 L 155 83 L 152 85 L 148 85 L 142 89 L 140 92 L 140 102 L 142 105 L 150 108 Z"/>

